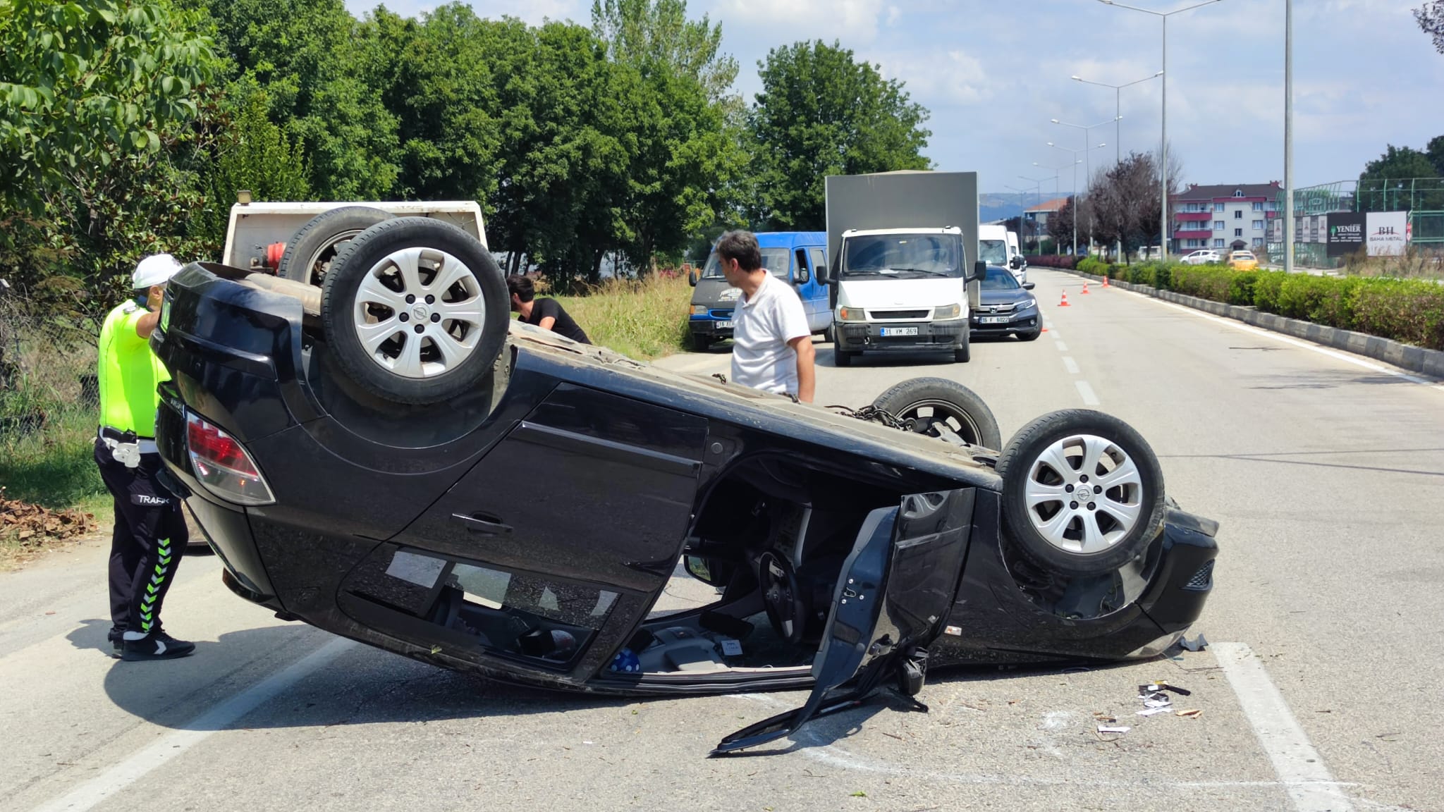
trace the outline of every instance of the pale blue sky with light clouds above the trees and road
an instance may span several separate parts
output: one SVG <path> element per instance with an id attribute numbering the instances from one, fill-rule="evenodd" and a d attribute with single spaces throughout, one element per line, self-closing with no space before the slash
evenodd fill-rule
<path id="1" fill-rule="evenodd" d="M 1129 0 L 1167 12 L 1197 0 Z M 1444 134 L 1444 55 L 1409 10 L 1422 0 L 1295 0 L 1294 182 L 1357 178 L 1385 144 L 1422 149 Z M 375 1 L 347 0 L 362 14 Z M 390 0 L 401 14 L 435 7 Z M 588 25 L 591 0 L 472 0 L 479 16 Z M 757 62 L 799 39 L 838 39 L 902 79 L 931 111 L 927 155 L 939 169 L 978 170 L 986 192 L 1053 176 L 1083 133 L 1051 124 L 1112 121 L 1108 84 L 1162 68 L 1160 20 L 1097 0 L 690 0 L 692 16 L 722 23 L 741 64 L 738 90 L 760 88 Z M 1160 139 L 1160 81 L 1122 91 L 1122 121 L 1092 130 L 1092 165 L 1115 144 L 1148 150 Z M 1284 178 L 1284 0 L 1222 0 L 1168 19 L 1168 140 L 1194 183 Z M 1082 155 L 1080 155 L 1082 157 Z M 1040 163 L 1044 168 L 1034 166 Z M 1079 169 L 1079 182 L 1084 172 Z M 1067 192 L 1071 169 L 1061 170 Z"/>

